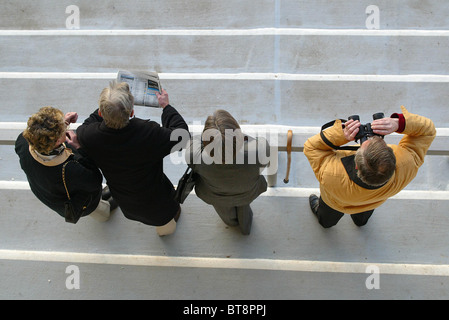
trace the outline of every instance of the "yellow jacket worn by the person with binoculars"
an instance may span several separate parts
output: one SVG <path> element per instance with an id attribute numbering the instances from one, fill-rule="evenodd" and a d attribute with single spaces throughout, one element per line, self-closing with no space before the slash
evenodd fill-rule
<path id="1" fill-rule="evenodd" d="M 334 150 L 322 140 L 320 134 L 306 141 L 304 154 L 320 182 L 321 198 L 328 206 L 348 214 L 372 210 L 415 178 L 435 138 L 435 125 L 428 118 L 409 113 L 404 106 L 401 109 L 405 118 L 404 137 L 398 145 L 389 145 L 396 155 L 396 170 L 380 188 L 366 189 L 349 178 L 341 160 L 355 154 L 355 151 Z M 326 129 L 324 134 L 335 146 L 348 143 L 341 120 Z"/>

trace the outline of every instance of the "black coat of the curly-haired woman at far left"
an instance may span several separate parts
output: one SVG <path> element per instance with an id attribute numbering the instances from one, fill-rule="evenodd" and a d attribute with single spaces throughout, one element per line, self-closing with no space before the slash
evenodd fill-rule
<path id="1" fill-rule="evenodd" d="M 57 165 L 37 161 L 30 153 L 28 142 L 22 134 L 16 140 L 15 151 L 20 159 L 20 166 L 25 172 L 31 191 L 50 209 L 64 217 L 64 202 L 67 193 L 62 181 L 62 166 L 65 168 L 65 180 L 70 198 L 76 208 L 83 210 L 83 216 L 94 211 L 101 198 L 103 177 L 95 165 L 70 145 L 69 152 L 64 152 Z M 67 150 L 68 151 L 68 150 Z M 76 160 L 77 162 L 71 161 Z"/>

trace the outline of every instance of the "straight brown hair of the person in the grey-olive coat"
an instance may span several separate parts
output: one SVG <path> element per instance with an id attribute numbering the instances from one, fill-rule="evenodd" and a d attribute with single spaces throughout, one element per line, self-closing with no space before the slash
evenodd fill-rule
<path id="1" fill-rule="evenodd" d="M 212 131 L 212 135 L 209 140 L 204 139 L 205 133 L 209 130 Z M 209 131 L 209 132 L 211 132 Z M 230 150 L 226 149 L 226 142 L 230 142 L 229 139 L 232 138 L 232 159 L 235 161 L 237 151 L 242 147 L 244 135 L 240 129 L 237 120 L 225 110 L 217 110 L 213 115 L 207 117 L 206 123 L 204 124 L 203 130 L 203 145 L 206 147 L 212 143 L 215 138 L 221 138 L 222 144 L 222 163 L 226 161 L 226 154 L 229 154 Z M 210 155 L 214 157 L 214 149 L 211 150 Z"/>

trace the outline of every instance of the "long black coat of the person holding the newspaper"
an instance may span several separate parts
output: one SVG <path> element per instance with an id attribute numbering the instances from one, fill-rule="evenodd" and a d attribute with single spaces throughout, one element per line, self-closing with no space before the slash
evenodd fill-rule
<path id="1" fill-rule="evenodd" d="M 170 141 L 174 129 L 188 126 L 175 108 L 162 111 L 162 125 L 132 118 L 123 129 L 108 128 L 98 110 L 78 127 L 83 150 L 103 172 L 112 196 L 125 217 L 161 226 L 176 215 L 179 204 L 174 187 L 163 173 L 163 158 L 178 141 Z"/>

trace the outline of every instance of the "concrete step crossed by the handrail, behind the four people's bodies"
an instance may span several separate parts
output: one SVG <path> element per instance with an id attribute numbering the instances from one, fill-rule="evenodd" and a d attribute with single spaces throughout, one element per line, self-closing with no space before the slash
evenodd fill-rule
<path id="1" fill-rule="evenodd" d="M 160 112 L 160 110 L 159 110 Z M 14 152 L 14 142 L 17 136 L 25 129 L 23 122 L 0 122 L 0 163 L 3 170 L 0 171 L 0 180 L 5 181 L 26 181 L 26 176 L 21 170 L 17 155 Z M 79 123 L 72 124 L 71 128 L 76 129 Z M 193 124 L 189 126 L 192 135 L 201 133 L 203 125 Z M 263 136 L 269 139 L 272 147 L 278 153 L 277 170 L 266 170 L 265 175 L 272 175 L 276 172 L 276 176 L 270 177 L 270 185 L 300 187 L 300 188 L 316 188 L 318 182 L 310 168 L 307 158 L 302 153 L 305 141 L 319 132 L 319 127 L 289 127 L 277 125 L 242 125 L 243 132 L 252 136 Z M 289 176 L 289 183 L 286 185 L 283 179 L 287 172 L 287 133 L 288 130 L 293 131 L 292 141 L 292 162 Z M 387 143 L 397 144 L 402 138 L 400 134 L 392 134 L 385 139 Z M 437 137 L 432 143 L 426 161 L 418 172 L 417 177 L 407 186 L 410 190 L 435 190 L 444 191 L 449 189 L 449 172 L 447 165 L 449 163 L 449 129 L 438 128 Z M 183 153 L 174 153 L 164 159 L 164 171 L 172 181 L 177 184 L 186 168 Z"/>

